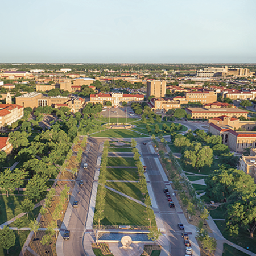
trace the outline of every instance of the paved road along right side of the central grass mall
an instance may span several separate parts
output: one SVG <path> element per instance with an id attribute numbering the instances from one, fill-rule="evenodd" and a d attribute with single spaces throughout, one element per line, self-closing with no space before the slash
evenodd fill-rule
<path id="1" fill-rule="evenodd" d="M 150 141 L 148 140 L 147 142 L 149 143 Z M 181 237 L 179 228 L 177 228 L 177 223 L 180 222 L 179 216 L 175 208 L 170 208 L 168 206 L 166 196 L 163 193 L 165 184 L 158 170 L 158 166 L 156 165 L 155 159 L 148 156 L 150 155 L 148 146 L 143 145 L 142 140 L 137 140 L 137 143 L 142 149 L 140 153 L 143 156 L 144 164 L 147 166 L 147 173 L 155 195 L 156 203 L 158 204 L 158 209 L 171 243 L 170 253 L 172 256 L 185 255 L 184 240 Z"/>

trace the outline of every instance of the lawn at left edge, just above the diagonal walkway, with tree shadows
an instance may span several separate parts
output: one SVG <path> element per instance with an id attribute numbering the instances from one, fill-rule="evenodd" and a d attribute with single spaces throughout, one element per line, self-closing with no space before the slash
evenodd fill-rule
<path id="1" fill-rule="evenodd" d="M 0 196 L 0 224 L 22 213 L 20 203 L 24 196 Z"/>

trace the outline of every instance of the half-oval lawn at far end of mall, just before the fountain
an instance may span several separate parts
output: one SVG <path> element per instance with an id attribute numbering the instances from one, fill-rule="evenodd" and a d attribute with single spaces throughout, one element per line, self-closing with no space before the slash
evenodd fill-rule
<path id="1" fill-rule="evenodd" d="M 108 137 L 108 138 L 137 138 L 137 137 L 148 137 L 144 134 L 141 136 L 135 131 L 127 129 L 109 129 L 106 131 L 100 131 L 99 133 L 94 133 L 92 137 Z"/>

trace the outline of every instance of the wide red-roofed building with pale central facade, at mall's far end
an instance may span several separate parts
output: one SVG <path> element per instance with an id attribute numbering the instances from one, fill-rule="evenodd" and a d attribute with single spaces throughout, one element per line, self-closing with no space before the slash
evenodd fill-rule
<path id="1" fill-rule="evenodd" d="M 143 102 L 144 95 L 142 94 L 123 94 L 123 93 L 97 93 L 97 94 L 90 94 L 90 102 L 92 103 L 101 103 L 102 105 L 105 102 L 110 101 L 112 106 L 119 106 L 121 102 L 126 102 L 131 104 L 132 102 Z"/>

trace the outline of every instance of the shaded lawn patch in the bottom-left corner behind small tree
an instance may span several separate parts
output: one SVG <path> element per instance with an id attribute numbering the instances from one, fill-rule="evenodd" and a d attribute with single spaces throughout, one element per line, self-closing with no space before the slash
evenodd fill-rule
<path id="1" fill-rule="evenodd" d="M 20 231 L 18 234 L 18 231 L 14 231 L 16 240 L 14 247 L 11 247 L 9 249 L 9 254 L 7 254 L 7 251 L 3 249 L 1 243 L 0 243 L 0 256 L 18 256 L 20 254 L 20 251 L 27 240 L 28 234 L 30 231 Z"/>

